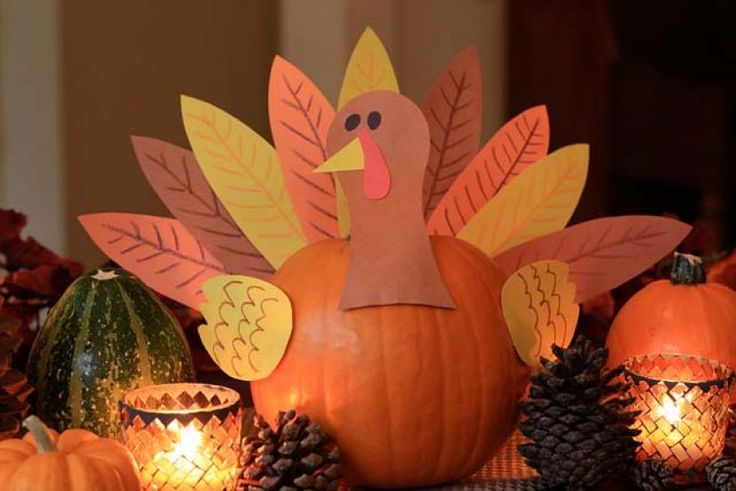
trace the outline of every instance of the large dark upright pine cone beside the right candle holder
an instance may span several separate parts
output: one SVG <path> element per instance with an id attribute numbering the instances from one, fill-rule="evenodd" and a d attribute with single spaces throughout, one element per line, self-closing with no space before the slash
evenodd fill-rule
<path id="1" fill-rule="evenodd" d="M 622 369 L 603 368 L 605 348 L 579 336 L 569 348 L 552 351 L 557 359 L 542 360 L 522 404 L 520 429 L 531 443 L 519 452 L 545 486 L 592 488 L 633 464 L 638 431 L 629 426 L 637 413 L 627 409 L 633 401 L 616 380 Z"/>

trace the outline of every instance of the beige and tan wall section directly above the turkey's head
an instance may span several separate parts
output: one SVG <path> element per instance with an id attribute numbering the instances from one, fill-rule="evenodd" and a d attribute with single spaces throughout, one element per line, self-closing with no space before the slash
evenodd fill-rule
<path id="1" fill-rule="evenodd" d="M 281 0 L 281 52 L 335 101 L 350 50 L 369 25 L 386 44 L 402 92 L 422 101 L 453 55 L 475 45 L 489 135 L 505 116 L 506 2 Z"/>

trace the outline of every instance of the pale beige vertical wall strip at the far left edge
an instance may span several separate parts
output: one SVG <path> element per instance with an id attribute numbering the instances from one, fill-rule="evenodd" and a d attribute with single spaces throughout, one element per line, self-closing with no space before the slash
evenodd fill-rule
<path id="1" fill-rule="evenodd" d="M 0 206 L 65 248 L 58 0 L 0 0 Z"/>

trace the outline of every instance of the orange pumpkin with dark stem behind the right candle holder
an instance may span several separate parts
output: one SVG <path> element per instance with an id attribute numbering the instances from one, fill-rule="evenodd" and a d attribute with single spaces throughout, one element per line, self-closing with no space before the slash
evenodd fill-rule
<path id="1" fill-rule="evenodd" d="M 623 306 L 606 346 L 610 366 L 647 354 L 679 354 L 736 367 L 736 292 L 706 283 L 702 262 L 675 253 L 670 280 L 650 283 Z"/>

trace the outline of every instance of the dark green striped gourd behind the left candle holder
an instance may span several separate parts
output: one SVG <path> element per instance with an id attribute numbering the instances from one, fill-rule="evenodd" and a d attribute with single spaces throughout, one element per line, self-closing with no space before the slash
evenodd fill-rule
<path id="1" fill-rule="evenodd" d="M 49 312 L 28 360 L 36 414 L 57 430 L 119 430 L 128 390 L 188 382 L 194 365 L 181 327 L 136 277 L 101 269 L 77 279 Z"/>

